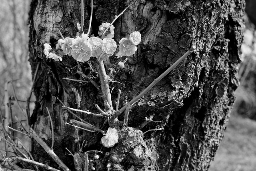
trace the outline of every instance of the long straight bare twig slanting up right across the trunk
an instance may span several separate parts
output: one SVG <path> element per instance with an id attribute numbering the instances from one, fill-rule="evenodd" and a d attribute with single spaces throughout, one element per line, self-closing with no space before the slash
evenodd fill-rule
<path id="1" fill-rule="evenodd" d="M 162 80 L 162 78 L 164 78 L 169 72 L 171 72 L 178 64 L 180 64 L 180 62 L 182 62 L 182 60 L 184 60 L 189 54 L 191 54 L 194 49 L 196 47 L 193 46 L 190 50 L 188 50 L 182 57 L 180 57 L 176 62 L 174 62 L 174 64 L 172 64 L 172 66 L 170 66 L 170 68 L 168 68 L 163 74 L 161 74 L 158 78 L 156 78 L 150 85 L 148 85 L 148 87 L 146 87 L 146 89 L 144 89 L 139 95 L 137 95 L 136 97 L 134 97 L 134 99 L 132 99 L 129 104 L 133 105 L 136 101 L 138 101 L 143 95 L 145 95 L 154 85 L 156 85 L 160 80 Z M 123 111 L 125 111 L 126 109 L 126 105 L 124 105 L 124 107 L 122 107 L 121 109 L 119 109 L 114 115 L 113 117 L 117 117 L 118 115 L 120 115 Z"/>

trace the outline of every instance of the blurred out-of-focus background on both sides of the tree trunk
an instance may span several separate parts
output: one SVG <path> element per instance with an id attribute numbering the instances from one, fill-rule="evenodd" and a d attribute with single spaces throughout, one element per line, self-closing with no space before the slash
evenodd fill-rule
<path id="1" fill-rule="evenodd" d="M 28 12 L 30 0 L 0 0 L 0 136 L 5 116 L 5 89 L 11 97 L 12 115 L 26 126 L 26 98 L 32 85 L 28 62 Z M 209 171 L 255 171 L 256 168 L 256 0 L 246 0 L 244 44 L 236 102 L 224 139 Z M 5 87 L 5 85 L 7 85 Z M 14 99 L 18 99 L 18 103 Z M 32 97 L 33 101 L 35 100 Z M 19 107 L 19 105 L 20 107 Z M 33 109 L 33 102 L 30 109 Z M 14 121 L 15 122 L 15 121 Z M 13 136 L 13 135 L 12 135 Z M 22 135 L 15 137 L 26 139 Z M 0 138 L 1 139 L 1 138 Z M 26 141 L 26 140 L 25 140 Z M 19 142 L 16 142 L 19 144 Z M 0 154 L 6 149 L 0 141 Z"/>

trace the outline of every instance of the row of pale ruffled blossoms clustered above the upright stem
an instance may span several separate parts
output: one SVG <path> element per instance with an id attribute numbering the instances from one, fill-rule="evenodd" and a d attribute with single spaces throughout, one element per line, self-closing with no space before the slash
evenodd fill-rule
<path id="1" fill-rule="evenodd" d="M 108 28 L 108 29 L 107 29 Z M 107 29 L 107 30 L 106 30 Z M 99 26 L 99 37 L 90 37 L 82 33 L 76 38 L 66 37 L 58 40 L 56 49 L 52 49 L 50 44 L 44 44 L 44 54 L 46 58 L 52 58 L 55 61 L 62 61 L 64 55 L 72 56 L 78 62 L 86 62 L 90 57 L 95 57 L 99 62 L 114 55 L 117 44 L 114 41 L 114 26 L 110 23 L 103 23 Z M 130 38 L 122 38 L 119 42 L 119 52 L 116 56 L 133 55 L 141 40 L 139 32 L 130 34 Z"/>

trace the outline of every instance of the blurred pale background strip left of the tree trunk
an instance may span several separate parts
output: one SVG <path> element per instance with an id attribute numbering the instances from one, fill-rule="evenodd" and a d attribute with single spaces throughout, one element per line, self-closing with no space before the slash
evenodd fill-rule
<path id="1" fill-rule="evenodd" d="M 30 8 L 31 0 L 1 0 L 0 5 L 0 135 L 6 128 L 6 124 L 13 124 L 14 128 L 17 127 L 12 123 L 12 116 L 17 116 L 22 120 L 22 124 L 26 127 L 27 118 L 20 110 L 26 109 L 26 97 L 28 96 L 30 87 L 32 85 L 32 76 L 30 64 L 28 62 L 28 11 Z M 12 82 L 12 86 L 8 84 L 4 88 L 5 83 L 10 80 L 17 80 Z M 4 93 L 4 91 L 6 92 Z M 5 94 L 8 97 L 5 97 Z M 20 99 L 20 104 L 13 101 L 13 98 Z M 4 101 L 5 100 L 5 101 Z M 11 102 L 11 100 L 13 102 Z M 6 102 L 8 101 L 8 102 Z M 34 100 L 33 100 L 34 101 Z M 8 103 L 8 104 L 7 104 Z M 33 105 L 31 103 L 31 105 Z M 34 107 L 31 107 L 33 109 Z M 26 111 L 26 110 L 25 110 Z M 6 118 L 5 113 L 9 118 Z M 15 119 L 14 119 L 15 120 Z M 5 123 L 3 125 L 3 123 Z M 27 137 L 8 131 L 12 137 L 18 137 L 26 142 Z M 25 144 L 28 146 L 28 144 Z M 0 140 L 0 149 L 5 149 L 5 142 Z M 8 151 L 12 151 L 11 147 L 7 147 Z M 2 155 L 4 151 L 0 151 Z"/>

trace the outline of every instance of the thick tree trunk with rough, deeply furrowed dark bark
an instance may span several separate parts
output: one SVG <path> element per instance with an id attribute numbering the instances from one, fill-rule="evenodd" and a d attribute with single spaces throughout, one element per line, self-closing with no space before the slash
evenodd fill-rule
<path id="1" fill-rule="evenodd" d="M 94 0 L 92 32 L 98 34 L 98 26 L 112 22 L 126 6 L 134 2 L 114 23 L 116 42 L 131 32 L 139 31 L 142 42 L 126 67 L 119 70 L 110 83 L 112 101 L 116 101 L 118 89 L 122 90 L 120 106 L 138 95 L 155 78 L 160 76 L 182 54 L 191 48 L 196 50 L 154 86 L 131 109 L 128 128 L 138 139 L 119 140 L 112 148 L 100 144 L 101 133 L 79 131 L 80 143 L 87 141 L 83 151 L 99 150 L 100 160 L 94 163 L 96 170 L 207 170 L 223 137 L 234 102 L 234 90 L 238 86 L 237 65 L 240 62 L 240 46 L 244 15 L 244 0 Z M 74 170 L 73 159 L 64 149 L 78 151 L 74 142 L 76 131 L 65 125 L 73 119 L 57 97 L 65 105 L 97 113 L 104 102 L 98 87 L 88 83 L 63 80 L 63 77 L 86 80 L 76 73 L 75 60 L 65 56 L 62 62 L 46 59 L 43 44 L 54 47 L 59 39 L 56 28 L 64 37 L 76 35 L 80 23 L 80 1 L 32 0 L 30 11 L 30 63 L 34 74 L 40 70 L 34 85 L 36 107 L 31 123 L 41 137 L 51 143 L 51 129 L 46 107 L 54 122 L 57 155 Z M 90 0 L 85 0 L 85 27 L 90 18 Z M 106 60 L 106 72 L 110 77 L 121 59 L 115 56 Z M 123 60 L 123 59 L 122 59 Z M 81 63 L 84 74 L 100 87 L 96 72 L 96 59 Z M 86 80 L 88 81 L 88 80 Z M 105 118 L 78 113 L 89 123 L 107 130 Z M 123 120 L 123 114 L 119 120 Z M 163 131 L 145 133 L 136 128 L 145 117 L 162 122 L 150 122 L 141 129 L 164 128 Z M 127 141 L 126 141 L 127 140 Z M 48 142 L 47 141 L 47 142 Z M 140 142 L 139 142 L 140 141 Z M 122 142 L 122 143 L 121 143 Z M 130 143 L 129 143 L 130 142 Z M 37 161 L 58 167 L 48 155 L 34 143 L 33 154 Z M 89 153 L 89 159 L 94 153 Z"/>

